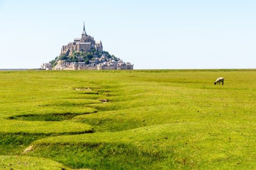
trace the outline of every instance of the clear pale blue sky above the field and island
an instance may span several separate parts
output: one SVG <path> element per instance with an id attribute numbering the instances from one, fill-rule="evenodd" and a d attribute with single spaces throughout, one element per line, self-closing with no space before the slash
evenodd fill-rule
<path id="1" fill-rule="evenodd" d="M 134 69 L 256 68 L 255 0 L 0 0 L 0 68 L 39 68 L 87 34 Z"/>

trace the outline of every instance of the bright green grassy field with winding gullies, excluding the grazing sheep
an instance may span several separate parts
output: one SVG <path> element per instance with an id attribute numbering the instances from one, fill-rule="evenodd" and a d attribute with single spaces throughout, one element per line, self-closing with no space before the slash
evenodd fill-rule
<path id="1" fill-rule="evenodd" d="M 255 69 L 0 80 L 0 169 L 256 169 Z"/>

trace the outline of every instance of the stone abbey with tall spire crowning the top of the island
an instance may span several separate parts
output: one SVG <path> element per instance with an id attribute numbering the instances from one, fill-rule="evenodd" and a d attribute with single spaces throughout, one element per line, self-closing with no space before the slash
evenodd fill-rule
<path id="1" fill-rule="evenodd" d="M 102 53 L 103 47 L 101 41 L 97 42 L 90 35 L 87 35 L 83 22 L 83 31 L 81 38 L 75 38 L 68 45 L 63 45 L 60 55 L 71 56 L 74 52 L 91 52 L 92 49 Z"/>

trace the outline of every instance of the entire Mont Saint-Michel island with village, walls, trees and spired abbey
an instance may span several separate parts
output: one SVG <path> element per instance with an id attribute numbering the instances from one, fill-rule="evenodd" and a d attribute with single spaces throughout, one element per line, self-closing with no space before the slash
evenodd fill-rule
<path id="1" fill-rule="evenodd" d="M 63 45 L 60 55 L 49 63 L 43 63 L 41 69 L 133 69 L 133 65 L 103 51 L 102 42 L 95 41 L 86 33 L 83 22 L 81 38 Z"/>

